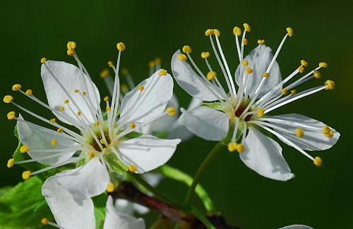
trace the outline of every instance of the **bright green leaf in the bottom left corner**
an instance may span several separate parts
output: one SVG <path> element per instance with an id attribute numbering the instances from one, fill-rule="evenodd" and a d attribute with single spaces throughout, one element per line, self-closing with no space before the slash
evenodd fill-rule
<path id="1" fill-rule="evenodd" d="M 15 187 L 0 190 L 0 228 L 41 228 L 41 219 L 52 218 L 42 197 L 42 180 L 32 177 Z"/>

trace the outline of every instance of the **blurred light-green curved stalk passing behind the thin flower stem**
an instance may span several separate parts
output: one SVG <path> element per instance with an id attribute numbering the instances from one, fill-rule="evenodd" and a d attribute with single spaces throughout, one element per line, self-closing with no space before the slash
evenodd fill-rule
<path id="1" fill-rule="evenodd" d="M 159 171 L 165 177 L 172 179 L 172 180 L 177 180 L 179 182 L 183 182 L 184 184 L 188 185 L 189 187 L 191 186 L 191 183 L 193 182 L 193 178 L 189 174 L 186 174 L 177 168 L 173 168 L 172 166 L 164 165 L 164 166 L 158 168 L 157 171 Z M 196 186 L 195 192 L 198 195 L 198 197 L 202 200 L 203 205 L 205 206 L 205 209 L 208 211 L 208 213 L 214 213 L 215 206 L 212 202 L 212 199 L 210 198 L 210 196 L 206 192 L 206 190 L 200 184 L 198 184 Z"/>

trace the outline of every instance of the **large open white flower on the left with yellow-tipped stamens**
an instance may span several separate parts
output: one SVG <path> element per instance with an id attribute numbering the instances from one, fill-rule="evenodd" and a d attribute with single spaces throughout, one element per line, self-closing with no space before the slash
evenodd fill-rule
<path id="1" fill-rule="evenodd" d="M 61 125 L 56 118 L 47 120 L 25 109 L 11 96 L 4 97 L 4 101 L 57 128 L 45 128 L 22 116 L 16 118 L 13 111 L 8 113 L 8 119 L 17 120 L 18 135 L 23 143 L 21 152 L 28 152 L 32 158 L 15 163 L 37 161 L 49 165 L 40 171 L 25 171 L 24 179 L 68 163 L 78 163 L 78 166 L 85 163 L 46 180 L 42 193 L 59 225 L 65 227 L 62 223 L 67 218 L 76 218 L 76 221 L 82 221 L 76 228 L 87 228 L 84 225 L 88 218 L 94 218 L 90 198 L 107 188 L 108 171 L 151 171 L 170 159 L 180 140 L 162 140 L 133 131 L 164 115 L 176 113 L 173 107 L 166 109 L 173 93 L 173 80 L 166 70 L 158 70 L 140 82 L 126 94 L 120 107 L 119 75 L 116 70 L 112 103 L 109 103 L 109 98 L 104 98 L 107 110 L 107 118 L 104 118 L 98 89 L 72 47 L 73 43 L 69 42 L 68 54 L 76 58 L 79 68 L 69 63 L 47 61 L 45 58 L 41 60 L 41 75 L 49 105 L 35 97 L 31 90 L 23 92 L 20 85 L 13 85 L 13 90 L 52 111 L 58 120 L 77 128 L 79 133 Z M 119 66 L 124 44 L 119 43 L 117 47 Z M 121 111 L 119 118 L 118 111 Z"/>

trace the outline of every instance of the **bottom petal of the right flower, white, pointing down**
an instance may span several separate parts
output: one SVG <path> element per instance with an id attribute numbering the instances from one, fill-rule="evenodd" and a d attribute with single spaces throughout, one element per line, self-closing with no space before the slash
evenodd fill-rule
<path id="1" fill-rule="evenodd" d="M 244 149 L 244 152 L 240 154 L 240 159 L 256 173 L 274 180 L 294 178 L 287 161 L 282 156 L 280 144 L 255 128 L 249 128 L 249 135 L 244 141 Z"/>

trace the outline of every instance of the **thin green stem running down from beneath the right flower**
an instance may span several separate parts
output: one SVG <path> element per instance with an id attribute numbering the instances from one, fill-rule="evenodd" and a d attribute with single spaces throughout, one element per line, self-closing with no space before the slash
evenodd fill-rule
<path id="1" fill-rule="evenodd" d="M 195 193 L 196 187 L 198 185 L 198 182 L 201 179 L 201 175 L 203 174 L 203 171 L 205 171 L 205 168 L 207 168 L 208 164 L 215 159 L 215 157 L 220 153 L 220 149 L 222 149 L 222 141 L 218 142 L 215 147 L 208 153 L 208 156 L 203 160 L 201 163 L 200 167 L 198 167 L 198 171 L 195 173 L 193 176 L 193 182 L 191 186 L 189 187 L 188 193 L 186 194 L 185 198 L 185 204 L 186 206 L 191 205 L 191 199 L 193 197 L 193 194 Z"/>

